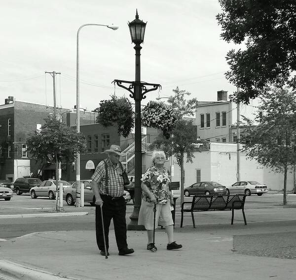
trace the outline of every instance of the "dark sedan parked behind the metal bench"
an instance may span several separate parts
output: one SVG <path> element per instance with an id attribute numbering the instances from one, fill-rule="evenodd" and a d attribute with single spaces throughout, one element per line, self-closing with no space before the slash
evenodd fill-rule
<path id="1" fill-rule="evenodd" d="M 185 187 L 184 189 L 184 195 L 190 196 L 190 195 L 198 195 L 198 194 L 227 194 L 227 190 L 225 186 L 222 186 L 221 184 L 217 182 L 197 182 L 189 187 Z"/>

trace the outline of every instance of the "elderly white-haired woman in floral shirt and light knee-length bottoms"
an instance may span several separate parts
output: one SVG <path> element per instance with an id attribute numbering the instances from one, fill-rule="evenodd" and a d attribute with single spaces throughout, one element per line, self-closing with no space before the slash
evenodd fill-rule
<path id="1" fill-rule="evenodd" d="M 165 226 L 168 236 L 167 249 L 180 249 L 182 245 L 174 241 L 174 222 L 171 214 L 171 205 L 174 204 L 173 195 L 169 188 L 170 173 L 163 166 L 166 157 L 163 151 L 152 153 L 152 163 L 142 177 L 142 204 L 138 224 L 144 225 L 148 235 L 147 249 L 156 251 L 153 243 L 154 204 L 156 204 L 155 225 Z"/>

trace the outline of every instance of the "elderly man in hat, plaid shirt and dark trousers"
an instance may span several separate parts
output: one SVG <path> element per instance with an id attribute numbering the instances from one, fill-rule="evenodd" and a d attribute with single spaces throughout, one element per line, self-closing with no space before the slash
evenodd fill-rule
<path id="1" fill-rule="evenodd" d="M 92 176 L 92 189 L 96 197 L 96 237 L 97 245 L 101 255 L 109 255 L 109 227 L 113 218 L 115 238 L 119 255 L 127 255 L 134 252 L 128 249 L 126 242 L 126 205 L 123 198 L 123 168 L 119 162 L 121 149 L 117 145 L 111 145 L 106 150 L 108 158 L 102 160 Z M 106 178 L 107 177 L 107 178 Z M 106 249 L 104 247 L 104 236 L 102 227 L 103 212 L 104 229 L 106 237 Z"/>

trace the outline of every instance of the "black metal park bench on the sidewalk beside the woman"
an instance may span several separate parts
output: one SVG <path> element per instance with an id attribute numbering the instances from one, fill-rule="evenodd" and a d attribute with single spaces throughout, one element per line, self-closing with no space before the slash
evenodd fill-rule
<path id="1" fill-rule="evenodd" d="M 246 195 L 245 194 L 230 194 L 230 195 L 195 195 L 192 197 L 192 202 L 183 202 L 181 206 L 181 226 L 183 227 L 183 216 L 185 212 L 190 212 L 195 228 L 194 212 L 204 211 L 232 211 L 231 224 L 233 224 L 234 210 L 241 209 L 245 225 L 247 225 L 244 212 Z M 191 204 L 191 207 L 186 207 Z"/>

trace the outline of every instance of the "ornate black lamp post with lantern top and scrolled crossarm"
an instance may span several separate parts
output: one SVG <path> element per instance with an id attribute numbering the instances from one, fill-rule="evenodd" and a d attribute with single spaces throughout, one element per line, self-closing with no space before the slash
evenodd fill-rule
<path id="1" fill-rule="evenodd" d="M 135 44 L 136 50 L 136 78 L 134 82 L 114 80 L 119 87 L 129 91 L 130 97 L 135 100 L 135 196 L 134 196 L 134 211 L 130 216 L 130 223 L 127 225 L 128 230 L 143 230 L 144 226 L 138 225 L 139 211 L 141 206 L 141 177 L 142 177 L 142 135 L 141 135 L 141 100 L 145 99 L 145 94 L 155 91 L 161 86 L 159 84 L 148 84 L 141 82 L 141 68 L 140 68 L 140 51 L 142 47 L 140 44 L 144 41 L 144 34 L 146 23 L 139 20 L 138 10 L 136 12 L 136 19 L 128 23 L 132 42 Z M 126 84 L 124 86 L 123 84 Z M 148 87 L 148 88 L 147 88 Z"/>

